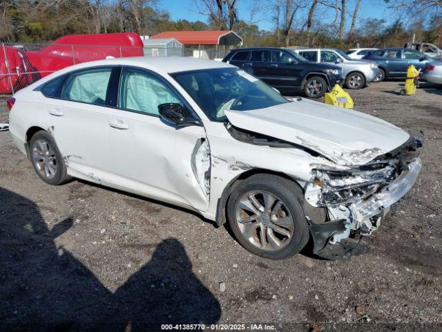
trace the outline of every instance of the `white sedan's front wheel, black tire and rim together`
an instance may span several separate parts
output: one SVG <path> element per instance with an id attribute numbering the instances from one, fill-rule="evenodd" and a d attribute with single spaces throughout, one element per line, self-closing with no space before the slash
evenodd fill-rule
<path id="1" fill-rule="evenodd" d="M 253 254 L 285 259 L 300 252 L 309 239 L 302 199 L 300 188 L 285 178 L 253 175 L 229 197 L 229 225 L 238 242 Z"/>

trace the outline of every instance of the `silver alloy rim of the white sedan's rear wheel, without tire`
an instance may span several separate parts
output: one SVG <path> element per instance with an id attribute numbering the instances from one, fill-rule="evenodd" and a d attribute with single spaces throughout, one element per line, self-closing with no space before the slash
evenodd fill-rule
<path id="1" fill-rule="evenodd" d="M 57 174 L 57 158 L 48 141 L 39 138 L 32 145 L 32 161 L 37 172 L 44 178 L 54 178 Z"/>

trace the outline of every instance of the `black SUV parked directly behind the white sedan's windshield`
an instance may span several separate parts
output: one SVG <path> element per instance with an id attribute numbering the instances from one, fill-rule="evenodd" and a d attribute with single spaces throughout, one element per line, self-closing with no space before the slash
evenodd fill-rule
<path id="1" fill-rule="evenodd" d="M 244 69 L 281 93 L 304 91 L 309 98 L 320 98 L 343 82 L 338 66 L 309 62 L 289 49 L 238 48 L 222 61 Z"/>

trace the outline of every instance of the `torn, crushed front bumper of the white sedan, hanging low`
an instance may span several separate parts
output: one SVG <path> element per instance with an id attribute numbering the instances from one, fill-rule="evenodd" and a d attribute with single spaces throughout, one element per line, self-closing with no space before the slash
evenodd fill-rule
<path id="1" fill-rule="evenodd" d="M 387 187 L 365 201 L 340 207 L 342 218 L 320 224 L 309 221 L 314 253 L 325 259 L 345 259 L 365 252 L 367 235 L 378 228 L 390 207 L 411 189 L 421 169 L 421 159 L 416 158 L 408 164 L 408 170 Z M 358 230 L 358 236 L 350 238 L 351 230 Z"/>

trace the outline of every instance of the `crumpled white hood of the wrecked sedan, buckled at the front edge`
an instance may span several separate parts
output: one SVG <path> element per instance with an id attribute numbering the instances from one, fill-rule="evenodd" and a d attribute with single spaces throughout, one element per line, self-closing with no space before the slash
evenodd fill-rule
<path id="1" fill-rule="evenodd" d="M 410 138 L 374 116 L 303 98 L 226 116 L 235 127 L 308 147 L 338 165 L 363 165 Z"/>

